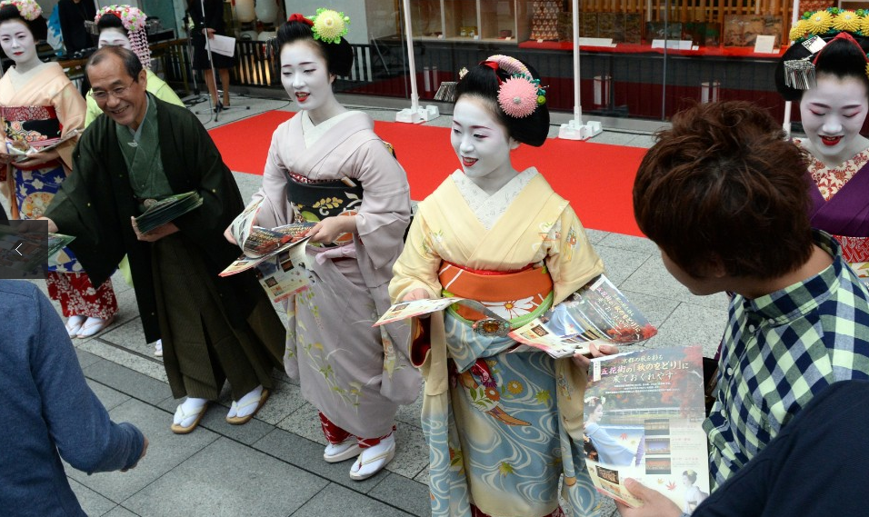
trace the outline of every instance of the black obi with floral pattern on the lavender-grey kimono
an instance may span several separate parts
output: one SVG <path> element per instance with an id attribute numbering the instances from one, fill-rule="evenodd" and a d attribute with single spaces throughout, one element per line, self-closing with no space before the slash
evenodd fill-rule
<path id="1" fill-rule="evenodd" d="M 318 223 L 335 215 L 355 215 L 362 204 L 362 185 L 349 186 L 341 180 L 310 180 L 301 174 L 286 174 L 286 198 L 300 221 Z M 351 182 L 352 183 L 352 182 Z M 332 246 L 353 242 L 352 234 L 340 234 Z"/>

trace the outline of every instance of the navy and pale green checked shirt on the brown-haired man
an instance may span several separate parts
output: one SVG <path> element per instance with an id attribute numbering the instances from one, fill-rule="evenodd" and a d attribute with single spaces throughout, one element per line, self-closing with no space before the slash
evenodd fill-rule
<path id="1" fill-rule="evenodd" d="M 720 486 L 831 383 L 869 379 L 869 293 L 839 244 L 815 231 L 833 264 L 801 283 L 730 303 L 718 400 L 704 430 Z"/>

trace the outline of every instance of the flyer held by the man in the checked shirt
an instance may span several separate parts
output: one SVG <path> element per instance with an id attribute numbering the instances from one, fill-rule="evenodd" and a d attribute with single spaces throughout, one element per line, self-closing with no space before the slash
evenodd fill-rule
<path id="1" fill-rule="evenodd" d="M 599 492 L 640 506 L 633 478 L 691 513 L 709 495 L 699 345 L 592 360 L 584 395 L 585 462 Z"/>

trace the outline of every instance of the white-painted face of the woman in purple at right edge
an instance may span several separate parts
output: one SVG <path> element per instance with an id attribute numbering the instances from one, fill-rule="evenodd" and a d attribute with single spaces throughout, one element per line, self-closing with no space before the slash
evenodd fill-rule
<path id="1" fill-rule="evenodd" d="M 822 74 L 817 86 L 803 93 L 800 114 L 808 135 L 806 147 L 824 164 L 842 164 L 869 146 L 860 129 L 869 113 L 864 81 Z"/>

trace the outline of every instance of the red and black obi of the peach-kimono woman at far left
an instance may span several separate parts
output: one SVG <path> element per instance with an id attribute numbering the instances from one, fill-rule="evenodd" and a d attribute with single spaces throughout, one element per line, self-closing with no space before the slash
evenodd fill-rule
<path id="1" fill-rule="evenodd" d="M 57 118 L 54 106 L 5 106 L 0 107 L 3 117 L 3 129 L 6 138 L 26 142 L 37 151 L 46 145 L 56 144 L 63 133 L 63 126 Z M 15 164 L 22 170 L 51 167 L 55 161 L 28 167 L 26 164 Z"/>

